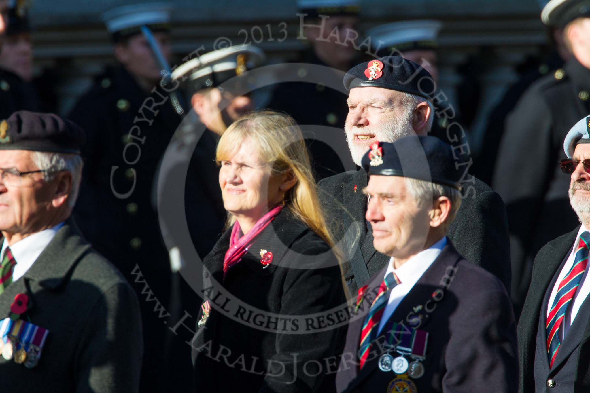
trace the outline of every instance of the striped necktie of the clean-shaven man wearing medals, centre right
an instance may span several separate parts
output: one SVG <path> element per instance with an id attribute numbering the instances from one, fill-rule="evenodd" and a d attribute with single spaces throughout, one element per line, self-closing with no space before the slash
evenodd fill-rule
<path id="1" fill-rule="evenodd" d="M 381 316 L 383 315 L 383 312 L 385 312 L 385 306 L 389 299 L 389 291 L 399 283 L 398 276 L 396 276 L 394 272 L 391 272 L 385 277 L 381 285 L 379 285 L 377 296 L 375 296 L 375 300 L 373 300 L 373 303 L 371 304 L 371 309 L 369 309 L 363 328 L 360 331 L 360 368 L 363 368 L 363 365 L 369 356 L 369 352 L 371 352 L 371 343 L 377 336 L 379 321 L 381 321 Z"/>

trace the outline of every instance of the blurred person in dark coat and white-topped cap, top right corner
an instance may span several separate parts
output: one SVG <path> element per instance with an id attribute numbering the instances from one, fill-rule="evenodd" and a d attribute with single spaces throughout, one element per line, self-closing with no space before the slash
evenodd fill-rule
<path id="1" fill-rule="evenodd" d="M 559 169 L 563 138 L 590 113 L 590 6 L 552 0 L 542 21 L 563 29 L 572 56 L 563 69 L 533 83 L 507 116 L 493 187 L 506 203 L 512 257 L 512 300 L 518 315 L 529 288 L 533 257 L 549 240 L 578 223 Z M 523 160 L 523 151 L 535 157 Z M 517 173 L 518 176 L 514 176 Z"/>

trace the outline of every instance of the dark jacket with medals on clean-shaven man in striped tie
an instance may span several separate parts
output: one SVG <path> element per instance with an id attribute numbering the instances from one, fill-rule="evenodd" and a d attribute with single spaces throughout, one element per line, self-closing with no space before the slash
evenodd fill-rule
<path id="1" fill-rule="evenodd" d="M 366 293 L 376 293 L 386 269 L 383 267 L 373 276 Z M 445 276 L 453 279 L 444 297 L 427 303 L 435 289 L 443 288 L 441 282 L 449 282 Z M 343 361 L 336 377 L 339 392 L 384 392 L 396 378 L 394 372 L 379 370 L 377 363 L 382 352 L 378 345 L 372 346 L 360 372 L 358 363 L 344 361 L 358 359 L 360 331 L 373 298 L 367 299 L 359 318 L 349 325 Z M 425 374 L 411 379 L 418 392 L 516 391 L 516 323 L 508 293 L 499 279 L 467 262 L 449 242 L 399 303 L 390 321 L 405 322 L 409 327 L 408 318 L 414 315 L 418 305 L 424 309 L 418 312 L 422 317 L 417 329 L 429 333 L 426 359 L 422 363 Z M 432 312 L 424 312 L 427 308 Z"/>

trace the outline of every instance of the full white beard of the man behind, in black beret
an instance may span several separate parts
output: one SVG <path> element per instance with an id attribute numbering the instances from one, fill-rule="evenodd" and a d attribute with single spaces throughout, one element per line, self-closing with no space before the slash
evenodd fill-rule
<path id="1" fill-rule="evenodd" d="M 412 111 L 407 110 L 404 115 L 391 115 L 386 118 L 381 124 L 366 127 L 350 127 L 348 123 L 345 124 L 346 141 L 348 148 L 352 155 L 352 160 L 360 165 L 360 161 L 367 151 L 369 151 L 370 143 L 355 144 L 355 133 L 373 134 L 379 142 L 394 143 L 396 140 L 414 135 L 414 128 L 411 124 Z"/>

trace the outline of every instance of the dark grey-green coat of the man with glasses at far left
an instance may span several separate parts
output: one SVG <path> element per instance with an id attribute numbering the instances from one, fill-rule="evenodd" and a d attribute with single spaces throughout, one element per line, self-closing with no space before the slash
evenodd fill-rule
<path id="1" fill-rule="evenodd" d="M 30 298 L 31 322 L 49 333 L 35 368 L 0 358 L 4 391 L 138 391 L 143 345 L 137 297 L 72 219 L 25 275 L 2 292 L 4 315 L 23 292 Z"/>

